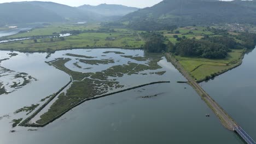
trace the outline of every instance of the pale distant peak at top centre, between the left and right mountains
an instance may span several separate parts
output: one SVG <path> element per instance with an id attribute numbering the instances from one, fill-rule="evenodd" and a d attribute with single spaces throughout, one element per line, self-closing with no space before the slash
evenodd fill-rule
<path id="1" fill-rule="evenodd" d="M 78 7 L 78 9 L 91 11 L 92 13 L 96 13 L 104 16 L 124 16 L 126 14 L 129 14 L 138 10 L 138 8 L 126 7 L 124 5 L 117 5 L 117 4 L 100 4 L 97 6 L 82 5 Z"/>

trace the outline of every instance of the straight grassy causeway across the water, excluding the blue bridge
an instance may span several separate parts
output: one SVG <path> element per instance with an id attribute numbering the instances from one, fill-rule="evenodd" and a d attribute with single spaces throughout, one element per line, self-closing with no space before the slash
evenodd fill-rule
<path id="1" fill-rule="evenodd" d="M 199 84 L 190 76 L 188 71 L 186 71 L 183 66 L 170 54 L 166 53 L 166 58 L 170 61 L 176 69 L 189 81 L 189 85 L 192 86 L 195 91 L 200 95 L 203 101 L 210 107 L 210 109 L 215 113 L 219 118 L 223 126 L 231 131 L 234 131 L 234 128 L 237 127 L 235 121 L 220 107 L 216 101 L 214 101 L 210 95 L 208 95 Z"/>

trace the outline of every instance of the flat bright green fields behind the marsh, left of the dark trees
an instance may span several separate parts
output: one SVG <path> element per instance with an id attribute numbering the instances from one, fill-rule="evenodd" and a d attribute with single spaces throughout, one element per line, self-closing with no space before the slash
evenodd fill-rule
<path id="1" fill-rule="evenodd" d="M 48 28 L 46 28 L 48 29 Z M 37 34 L 50 34 L 49 31 L 42 31 L 42 29 L 35 29 Z M 55 29 L 55 31 L 57 31 Z M 60 31 L 60 29 L 58 30 Z M 129 30 L 127 30 L 129 31 Z M 22 33 L 23 34 L 23 33 Z M 20 37 L 20 34 L 18 34 Z M 25 36 L 25 35 L 23 35 Z M 13 35 L 12 37 L 16 37 Z M 137 34 L 134 34 L 130 31 L 123 33 L 81 33 L 78 35 L 72 35 L 66 37 L 65 40 L 60 38 L 53 38 L 51 41 L 50 38 L 41 38 L 37 39 L 37 43 L 32 39 L 22 40 L 22 41 L 13 41 L 10 43 L 0 44 L 0 50 L 17 50 L 25 52 L 36 52 L 36 51 L 56 51 L 63 49 L 73 49 L 73 48 L 86 48 L 86 47 L 124 47 L 124 48 L 140 48 L 144 45 L 144 41 L 139 39 Z"/>

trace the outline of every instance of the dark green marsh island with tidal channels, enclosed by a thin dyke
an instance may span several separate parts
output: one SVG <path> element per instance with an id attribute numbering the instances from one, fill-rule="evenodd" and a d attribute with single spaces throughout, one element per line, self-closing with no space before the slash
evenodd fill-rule
<path id="1" fill-rule="evenodd" d="M 107 55 L 110 55 L 110 53 L 114 53 L 114 55 L 120 55 L 125 54 L 124 52 L 113 52 L 113 51 L 105 51 L 102 52 Z M 57 92 L 55 97 L 50 97 L 50 99 L 42 106 L 40 107 L 36 112 L 32 114 L 31 117 L 27 118 L 24 122 L 21 123 L 21 125 L 25 126 L 33 126 L 33 127 L 41 127 L 43 125 L 46 125 L 54 119 L 60 117 L 63 115 L 63 113 L 66 113 L 67 111 L 71 110 L 73 107 L 83 103 L 84 101 L 91 99 L 91 98 L 97 98 L 101 97 L 102 95 L 110 95 L 111 93 L 115 92 L 123 92 L 128 91 L 130 88 L 124 88 L 125 85 L 121 84 L 118 81 L 118 77 L 123 77 L 125 75 L 131 76 L 131 75 L 137 75 L 141 73 L 150 73 L 150 71 L 155 71 L 158 69 L 161 69 L 162 67 L 158 65 L 158 62 L 161 61 L 162 55 L 149 55 L 149 57 L 130 57 L 130 56 L 120 56 L 123 58 L 127 58 L 136 62 L 141 63 L 135 63 L 135 62 L 127 62 L 123 65 L 114 65 L 112 67 L 109 67 L 102 71 L 96 71 L 94 73 L 88 72 L 88 73 L 82 73 L 78 71 L 73 71 L 69 67 L 66 66 L 66 64 L 71 61 L 72 59 L 78 62 L 82 62 L 86 64 L 86 67 L 89 65 L 98 65 L 98 64 L 114 64 L 117 59 L 78 59 L 76 58 L 76 54 L 68 55 L 72 58 L 57 58 L 54 61 L 47 62 L 50 65 L 53 65 L 55 68 L 60 69 L 64 71 L 65 73 L 69 74 L 71 76 L 71 83 L 70 86 L 66 85 L 67 89 L 65 91 L 60 90 Z M 82 57 L 83 55 L 80 55 L 79 57 Z M 144 63 L 144 64 L 142 64 Z M 83 67 L 80 67 L 79 69 L 84 69 Z M 148 72 L 147 72 L 148 71 Z M 152 74 L 155 75 L 163 75 L 166 71 L 156 71 Z M 133 88 L 138 88 L 146 85 L 153 85 L 155 83 L 160 82 L 153 82 L 148 83 L 141 86 L 136 86 Z M 46 97 L 49 98 L 49 97 Z M 45 98 L 45 99 L 46 99 Z M 44 101 L 45 99 L 42 99 Z M 36 119 L 36 123 L 30 124 L 29 121 L 40 111 L 44 109 L 44 107 L 50 103 L 50 101 L 53 101 L 53 104 L 50 105 L 49 109 L 45 111 L 42 115 L 40 115 L 39 119 Z M 34 108 L 35 105 L 32 105 Z M 28 109 L 32 109 L 32 107 L 24 107 L 23 109 L 18 110 L 20 111 L 27 111 Z"/>

